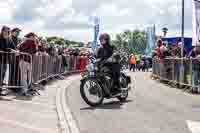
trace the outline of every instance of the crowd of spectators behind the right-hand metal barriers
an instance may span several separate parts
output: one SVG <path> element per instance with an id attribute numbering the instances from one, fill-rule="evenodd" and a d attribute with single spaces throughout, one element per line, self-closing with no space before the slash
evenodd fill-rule
<path id="1" fill-rule="evenodd" d="M 161 39 L 157 41 L 157 47 L 153 51 L 153 58 L 156 58 L 157 63 L 160 64 L 159 69 L 161 69 L 162 74 L 164 74 L 161 74 L 161 77 L 168 78 L 171 72 L 173 72 L 173 80 L 184 84 L 190 84 L 191 82 L 194 92 L 200 92 L 200 47 L 193 46 L 190 51 L 184 48 L 183 55 L 181 53 L 181 48 L 181 38 L 179 38 L 175 44 L 169 45 L 166 45 Z M 181 62 L 181 59 L 183 59 L 183 62 Z M 173 68 L 171 66 L 172 64 Z M 182 77 L 180 77 L 181 74 Z M 190 81 L 188 81 L 188 77 L 191 77 Z"/>

